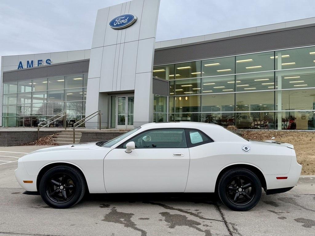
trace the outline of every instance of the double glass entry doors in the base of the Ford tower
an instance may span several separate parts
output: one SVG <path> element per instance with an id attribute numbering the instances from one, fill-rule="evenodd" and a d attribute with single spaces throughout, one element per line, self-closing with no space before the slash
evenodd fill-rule
<path id="1" fill-rule="evenodd" d="M 117 96 L 117 129 L 134 128 L 134 96 Z"/>

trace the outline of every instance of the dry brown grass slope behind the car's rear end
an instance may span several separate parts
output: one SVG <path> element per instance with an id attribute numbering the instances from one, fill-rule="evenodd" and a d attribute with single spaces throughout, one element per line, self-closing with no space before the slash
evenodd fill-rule
<path id="1" fill-rule="evenodd" d="M 271 140 L 294 145 L 298 163 L 302 168 L 301 175 L 315 175 L 315 132 L 304 131 L 241 131 L 244 138 L 252 140 Z"/>

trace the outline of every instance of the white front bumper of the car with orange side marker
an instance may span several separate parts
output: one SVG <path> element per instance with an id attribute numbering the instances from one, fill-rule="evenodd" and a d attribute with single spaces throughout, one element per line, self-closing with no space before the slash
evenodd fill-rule
<path id="1" fill-rule="evenodd" d="M 23 157 L 18 160 L 18 168 L 14 171 L 14 175 L 18 183 L 24 188 L 26 191 L 35 192 L 37 191 L 36 180 L 37 175 L 29 175 L 25 169 L 23 163 Z M 23 181 L 33 181 L 33 183 L 24 183 Z"/>

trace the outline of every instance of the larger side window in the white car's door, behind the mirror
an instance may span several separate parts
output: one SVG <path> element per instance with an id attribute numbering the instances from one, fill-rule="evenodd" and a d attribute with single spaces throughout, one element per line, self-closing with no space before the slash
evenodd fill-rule
<path id="1" fill-rule="evenodd" d="M 123 144 L 135 142 L 136 148 L 186 148 L 184 129 L 157 129 L 143 132 Z"/>

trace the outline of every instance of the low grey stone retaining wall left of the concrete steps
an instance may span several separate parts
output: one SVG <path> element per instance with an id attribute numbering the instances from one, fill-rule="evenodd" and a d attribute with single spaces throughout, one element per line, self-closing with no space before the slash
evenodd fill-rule
<path id="1" fill-rule="evenodd" d="M 60 130 L 39 131 L 39 138 L 48 136 Z M 35 131 L 0 131 L 0 146 L 17 146 L 22 143 L 29 143 L 37 140 L 37 130 Z"/>

